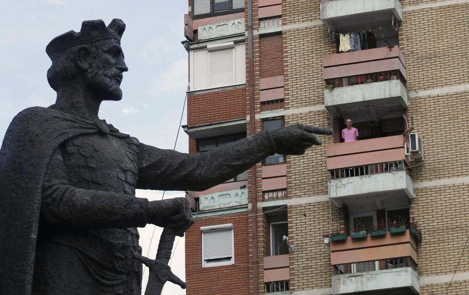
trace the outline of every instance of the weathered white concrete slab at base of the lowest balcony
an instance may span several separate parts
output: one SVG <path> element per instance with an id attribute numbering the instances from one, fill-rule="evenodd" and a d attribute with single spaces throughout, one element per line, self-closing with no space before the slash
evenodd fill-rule
<path id="1" fill-rule="evenodd" d="M 332 294 L 419 294 L 419 275 L 410 267 L 340 274 L 332 277 Z"/>

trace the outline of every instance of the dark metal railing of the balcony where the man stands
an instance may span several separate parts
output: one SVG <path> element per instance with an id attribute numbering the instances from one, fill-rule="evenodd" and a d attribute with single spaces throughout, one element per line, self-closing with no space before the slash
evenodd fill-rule
<path id="1" fill-rule="evenodd" d="M 354 177 L 354 176 L 379 174 L 379 173 L 386 173 L 386 172 L 403 171 L 404 169 L 407 168 L 406 164 L 407 163 L 405 163 L 404 161 L 396 161 L 396 162 L 386 162 L 386 163 L 364 165 L 364 166 L 357 166 L 357 167 L 350 167 L 350 168 L 333 169 L 333 170 L 330 170 L 330 176 L 331 176 L 331 179 L 337 179 L 337 178 L 344 178 L 344 177 Z"/>

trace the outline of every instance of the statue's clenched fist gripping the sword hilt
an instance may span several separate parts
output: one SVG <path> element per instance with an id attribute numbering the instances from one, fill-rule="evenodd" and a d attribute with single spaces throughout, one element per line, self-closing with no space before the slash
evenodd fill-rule
<path id="1" fill-rule="evenodd" d="M 147 206 L 147 221 L 169 228 L 179 236 L 183 236 L 194 224 L 191 206 L 186 198 L 150 201 Z"/>

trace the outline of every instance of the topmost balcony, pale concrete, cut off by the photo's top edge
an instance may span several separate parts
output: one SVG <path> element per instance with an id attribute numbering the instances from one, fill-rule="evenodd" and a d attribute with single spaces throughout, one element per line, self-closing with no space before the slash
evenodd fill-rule
<path id="1" fill-rule="evenodd" d="M 356 32 L 402 21 L 399 0 L 323 0 L 321 21 L 329 31 Z"/>

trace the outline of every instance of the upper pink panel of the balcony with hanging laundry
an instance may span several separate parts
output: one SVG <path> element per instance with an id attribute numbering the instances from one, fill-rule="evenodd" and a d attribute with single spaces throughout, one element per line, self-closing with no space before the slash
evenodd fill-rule
<path id="1" fill-rule="evenodd" d="M 322 63 L 324 67 L 329 67 L 348 63 L 363 63 L 394 58 L 398 58 L 405 67 L 405 58 L 398 46 L 394 46 L 392 50 L 389 50 L 387 47 L 380 47 L 359 51 L 328 54 L 322 57 Z"/>

